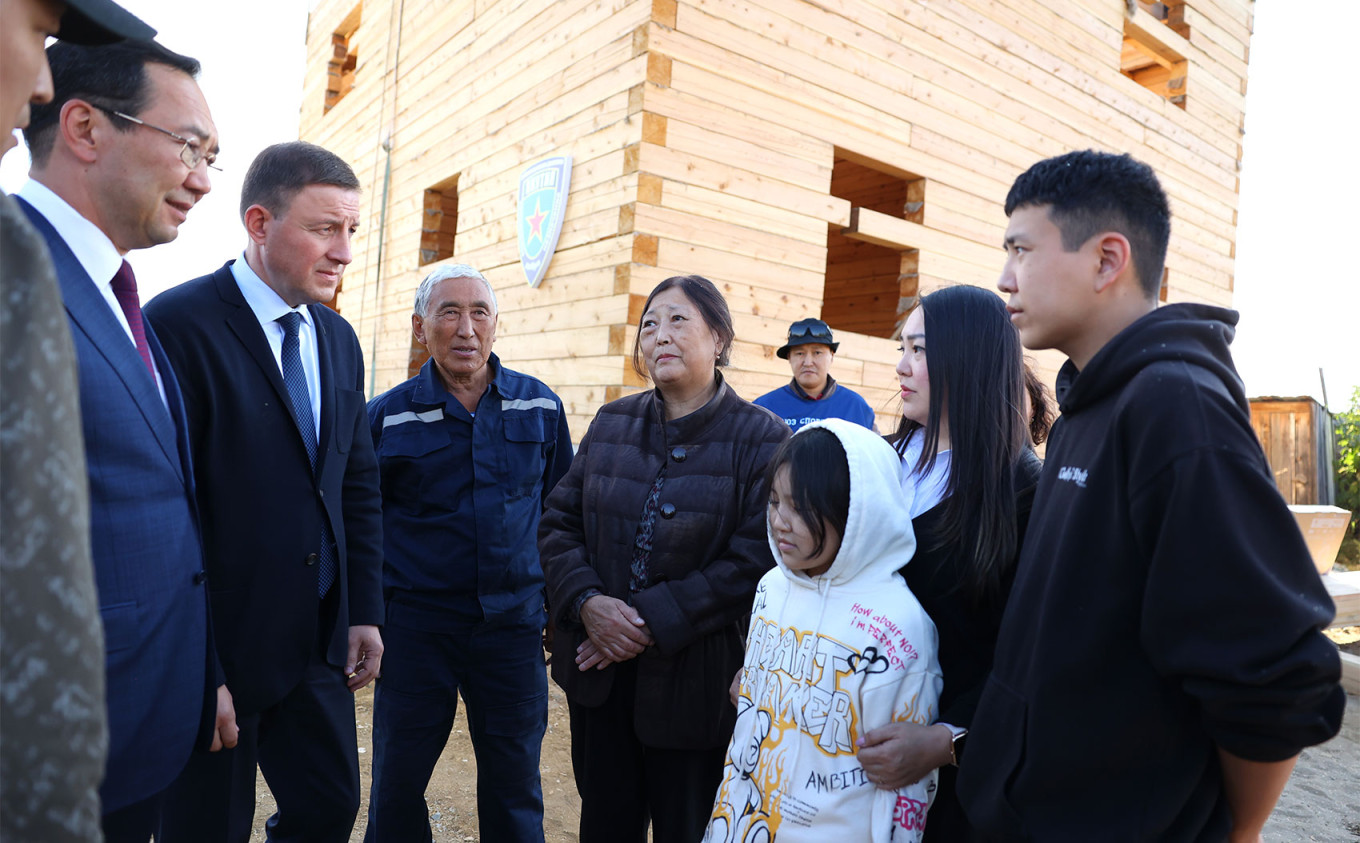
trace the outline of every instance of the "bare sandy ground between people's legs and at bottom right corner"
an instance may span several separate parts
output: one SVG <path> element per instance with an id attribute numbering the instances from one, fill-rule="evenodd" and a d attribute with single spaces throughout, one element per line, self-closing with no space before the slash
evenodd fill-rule
<path id="1" fill-rule="evenodd" d="M 581 798 L 571 779 L 571 734 L 567 700 L 562 689 L 548 683 L 548 734 L 543 741 L 544 832 L 548 843 L 575 843 Z M 363 840 L 369 810 L 369 759 L 373 691 L 359 692 L 359 774 L 363 802 L 351 840 Z M 443 757 L 435 768 L 426 801 L 434 843 L 472 843 L 477 835 L 476 763 L 468 726 L 458 708 L 458 722 Z M 273 797 L 260 779 L 256 794 L 256 829 L 252 840 L 264 840 L 264 821 L 273 813 Z M 1360 840 L 1360 698 L 1346 700 L 1341 734 L 1321 746 L 1306 749 L 1289 786 L 1266 824 L 1268 843 L 1344 843 Z M 488 840 L 487 843 L 495 843 Z"/>

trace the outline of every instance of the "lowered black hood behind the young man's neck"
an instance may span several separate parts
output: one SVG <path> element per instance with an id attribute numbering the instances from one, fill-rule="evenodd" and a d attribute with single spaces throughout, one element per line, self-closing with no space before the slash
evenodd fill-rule
<path id="1" fill-rule="evenodd" d="M 1225 307 L 1191 303 L 1159 307 L 1115 334 L 1085 368 L 1078 371 L 1072 360 L 1062 364 L 1057 382 L 1058 409 L 1072 413 L 1095 404 L 1161 360 L 1190 363 L 1213 373 L 1246 409 L 1246 388 L 1228 351 L 1236 325 L 1238 311 Z"/>

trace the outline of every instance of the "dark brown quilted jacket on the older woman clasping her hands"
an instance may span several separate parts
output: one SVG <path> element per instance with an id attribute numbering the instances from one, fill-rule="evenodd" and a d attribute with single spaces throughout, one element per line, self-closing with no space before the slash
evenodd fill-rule
<path id="1" fill-rule="evenodd" d="M 635 659 L 635 727 L 649 746 L 726 744 L 736 719 L 728 687 L 741 666 L 744 619 L 756 583 L 774 567 L 764 470 L 787 438 L 781 419 L 721 379 L 704 407 L 673 422 L 664 422 L 656 390 L 600 408 L 539 525 L 556 624 L 552 678 L 568 700 L 594 707 L 609 695 L 615 666 L 577 669 L 585 628 L 571 609 L 588 589 L 630 601 L 642 507 L 669 460 L 651 540 L 654 585 L 631 597 L 656 640 Z"/>

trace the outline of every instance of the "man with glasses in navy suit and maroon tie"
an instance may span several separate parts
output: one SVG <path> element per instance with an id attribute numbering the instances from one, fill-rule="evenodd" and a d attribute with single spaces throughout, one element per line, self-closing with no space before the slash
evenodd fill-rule
<path id="1" fill-rule="evenodd" d="M 19 197 L 76 352 L 109 714 L 101 824 L 109 840 L 144 842 L 212 711 L 214 740 L 235 738 L 230 695 L 208 684 L 220 685 L 180 386 L 122 256 L 174 239 L 211 189 L 216 129 L 192 58 L 150 42 L 57 44 L 48 57 L 54 97 L 24 132 L 34 163 Z"/>

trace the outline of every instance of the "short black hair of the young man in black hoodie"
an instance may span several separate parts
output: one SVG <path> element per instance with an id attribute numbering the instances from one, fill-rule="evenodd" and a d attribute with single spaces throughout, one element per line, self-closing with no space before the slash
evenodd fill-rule
<path id="1" fill-rule="evenodd" d="M 1171 208 L 1152 167 L 1127 154 L 1095 150 L 1049 158 L 1010 185 L 1006 216 L 1028 205 L 1049 205 L 1049 219 L 1068 252 L 1102 231 L 1125 235 L 1142 294 L 1156 300 L 1171 239 Z"/>

